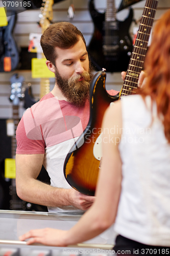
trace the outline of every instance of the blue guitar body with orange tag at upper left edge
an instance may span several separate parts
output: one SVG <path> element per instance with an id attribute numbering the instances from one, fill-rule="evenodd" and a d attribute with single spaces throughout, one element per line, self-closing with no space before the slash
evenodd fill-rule
<path id="1" fill-rule="evenodd" d="M 8 25 L 0 27 L 0 72 L 13 71 L 19 63 L 18 48 L 12 35 L 16 18 L 16 13 L 12 12 Z"/>

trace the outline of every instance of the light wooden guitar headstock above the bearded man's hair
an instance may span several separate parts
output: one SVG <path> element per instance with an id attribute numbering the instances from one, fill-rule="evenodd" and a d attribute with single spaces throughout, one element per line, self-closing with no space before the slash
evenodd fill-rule
<path id="1" fill-rule="evenodd" d="M 42 33 L 51 24 L 51 21 L 53 19 L 53 8 L 52 8 L 53 4 L 54 4 L 53 0 L 42 1 L 40 14 L 39 14 L 39 18 L 40 18 L 39 25 L 42 28 Z"/>

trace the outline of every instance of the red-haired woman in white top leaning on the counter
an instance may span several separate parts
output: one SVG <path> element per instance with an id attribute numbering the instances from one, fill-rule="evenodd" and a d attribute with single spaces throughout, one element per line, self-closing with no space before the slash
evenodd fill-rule
<path id="1" fill-rule="evenodd" d="M 96 199 L 70 230 L 31 230 L 20 240 L 67 246 L 111 224 L 120 255 L 169 254 L 170 10 L 155 25 L 145 59 L 147 82 L 105 113 L 103 160 Z"/>

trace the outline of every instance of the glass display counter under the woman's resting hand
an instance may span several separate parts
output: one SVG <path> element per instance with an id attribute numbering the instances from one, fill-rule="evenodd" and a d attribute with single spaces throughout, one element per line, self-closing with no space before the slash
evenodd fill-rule
<path id="1" fill-rule="evenodd" d="M 0 256 L 113 255 L 116 236 L 113 226 L 94 239 L 68 247 L 28 246 L 18 240 L 30 229 L 51 227 L 67 230 L 80 218 L 81 215 L 76 214 L 0 210 Z"/>

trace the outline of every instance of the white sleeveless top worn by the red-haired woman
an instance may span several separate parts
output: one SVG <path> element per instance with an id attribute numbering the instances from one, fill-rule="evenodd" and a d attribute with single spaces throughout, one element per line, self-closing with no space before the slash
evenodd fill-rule
<path id="1" fill-rule="evenodd" d="M 148 245 L 170 246 L 170 144 L 151 98 L 122 99 L 122 192 L 115 231 Z"/>

